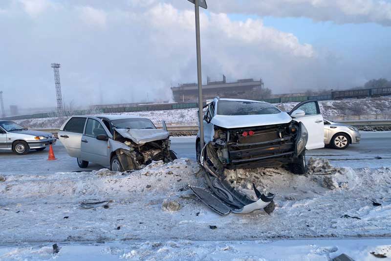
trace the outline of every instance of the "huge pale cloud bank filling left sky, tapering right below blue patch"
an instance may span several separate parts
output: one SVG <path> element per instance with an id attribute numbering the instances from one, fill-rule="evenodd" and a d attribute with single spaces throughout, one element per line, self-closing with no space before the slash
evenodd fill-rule
<path id="1" fill-rule="evenodd" d="M 190 2 L 91 2 L 69 0 L 61 8 L 52 8 L 52 2 L 47 2 L 47 7 L 30 10 L 29 16 L 24 9 L 8 8 L 12 15 L 2 16 L 0 23 L 0 79 L 4 96 L 18 97 L 9 103 L 55 106 L 50 67 L 54 62 L 61 63 L 64 100 L 84 106 L 145 101 L 147 95 L 150 101 L 168 100 L 171 86 L 196 81 L 195 18 Z M 281 0 L 275 2 L 278 6 Z M 314 0 L 313 4 L 316 2 L 323 1 Z M 217 80 L 222 74 L 228 80 L 262 78 L 266 87 L 281 93 L 350 87 L 357 79 L 387 77 L 390 71 L 386 52 L 359 62 L 359 58 L 346 61 L 344 52 L 335 54 L 303 43 L 291 33 L 264 25 L 261 18 L 233 20 L 225 12 L 251 10 L 233 6 L 235 11 L 224 11 L 218 3 L 208 1 L 209 11 L 201 12 L 204 82 L 208 75 Z M 263 1 L 254 2 L 253 12 L 259 10 L 257 3 Z M 276 9 L 273 3 L 269 1 L 270 10 Z M 281 16 L 287 11 L 276 12 Z M 31 23 L 25 17 L 33 13 L 40 19 Z M 29 89 L 39 91 L 27 92 Z"/>

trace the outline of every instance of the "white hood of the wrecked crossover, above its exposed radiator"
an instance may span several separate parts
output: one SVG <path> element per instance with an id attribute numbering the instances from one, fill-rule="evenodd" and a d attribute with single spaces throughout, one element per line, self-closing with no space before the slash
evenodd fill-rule
<path id="1" fill-rule="evenodd" d="M 225 129 L 237 129 L 246 127 L 283 124 L 292 121 L 292 117 L 286 112 L 262 115 L 215 115 L 211 123 Z"/>

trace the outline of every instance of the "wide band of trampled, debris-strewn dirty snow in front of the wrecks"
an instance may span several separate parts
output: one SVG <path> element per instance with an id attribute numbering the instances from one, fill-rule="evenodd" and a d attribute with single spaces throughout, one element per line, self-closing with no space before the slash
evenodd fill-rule
<path id="1" fill-rule="evenodd" d="M 340 169 L 314 158 L 309 169 L 307 175 L 283 168 L 227 171 L 246 194 L 254 194 L 252 183 L 274 193 L 276 209 L 225 217 L 188 189 L 204 186 L 203 170 L 190 159 L 131 173 L 3 174 L 0 243 L 391 235 L 391 168 Z"/>

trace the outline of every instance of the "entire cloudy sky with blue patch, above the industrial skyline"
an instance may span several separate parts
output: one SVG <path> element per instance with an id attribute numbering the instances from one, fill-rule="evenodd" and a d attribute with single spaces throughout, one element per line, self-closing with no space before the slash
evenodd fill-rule
<path id="1" fill-rule="evenodd" d="M 390 0 L 207 0 L 203 81 L 262 78 L 273 93 L 391 80 Z M 5 106 L 169 100 L 196 81 L 186 0 L 0 0 Z"/>

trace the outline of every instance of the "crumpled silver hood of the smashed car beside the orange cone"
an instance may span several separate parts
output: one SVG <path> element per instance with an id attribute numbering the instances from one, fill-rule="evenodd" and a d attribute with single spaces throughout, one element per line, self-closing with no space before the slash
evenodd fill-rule
<path id="1" fill-rule="evenodd" d="M 129 129 L 115 129 L 124 138 L 131 139 L 134 143 L 144 144 L 155 140 L 164 140 L 170 136 L 168 131 L 156 129 L 143 130 L 129 130 Z"/>

